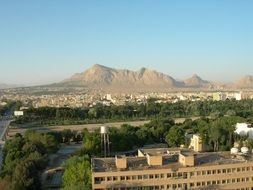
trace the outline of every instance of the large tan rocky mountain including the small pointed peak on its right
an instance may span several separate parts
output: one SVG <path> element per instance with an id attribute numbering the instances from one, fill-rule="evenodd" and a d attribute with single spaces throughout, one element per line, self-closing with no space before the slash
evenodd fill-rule
<path id="1" fill-rule="evenodd" d="M 134 91 L 202 88 L 207 87 L 209 83 L 197 75 L 180 82 L 169 75 L 147 68 L 130 71 L 113 69 L 98 64 L 61 82 L 64 86 L 86 86 L 93 89 L 125 89 Z"/>

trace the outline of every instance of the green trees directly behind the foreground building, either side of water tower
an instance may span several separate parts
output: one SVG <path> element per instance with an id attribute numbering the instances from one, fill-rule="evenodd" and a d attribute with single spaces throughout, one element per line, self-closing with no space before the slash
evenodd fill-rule
<path id="1" fill-rule="evenodd" d="M 234 133 L 238 122 L 247 119 L 239 116 L 219 118 L 187 119 L 182 124 L 175 124 L 170 118 L 154 118 L 139 127 L 124 124 L 120 128 L 110 127 L 110 148 L 112 152 L 129 151 L 147 144 L 167 143 L 169 147 L 189 146 L 191 134 L 199 134 L 210 151 L 227 151 L 235 141 L 248 140 Z M 100 131 L 83 131 L 83 154 L 99 155 Z M 250 140 L 248 140 L 250 141 Z M 242 142 L 241 142 L 242 143 Z"/>

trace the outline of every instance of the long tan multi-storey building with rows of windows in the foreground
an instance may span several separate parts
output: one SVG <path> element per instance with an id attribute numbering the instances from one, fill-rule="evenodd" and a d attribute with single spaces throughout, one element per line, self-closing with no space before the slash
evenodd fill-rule
<path id="1" fill-rule="evenodd" d="M 251 153 L 140 149 L 138 156 L 92 159 L 92 188 L 253 189 Z"/>

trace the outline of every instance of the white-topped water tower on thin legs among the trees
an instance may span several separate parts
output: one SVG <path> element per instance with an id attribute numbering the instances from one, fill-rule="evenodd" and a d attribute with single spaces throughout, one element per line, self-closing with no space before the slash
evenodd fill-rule
<path id="1" fill-rule="evenodd" d="M 100 134 L 101 134 L 101 153 L 104 153 L 104 157 L 110 154 L 110 141 L 109 141 L 109 134 L 108 134 L 108 127 L 101 126 L 100 127 Z"/>

